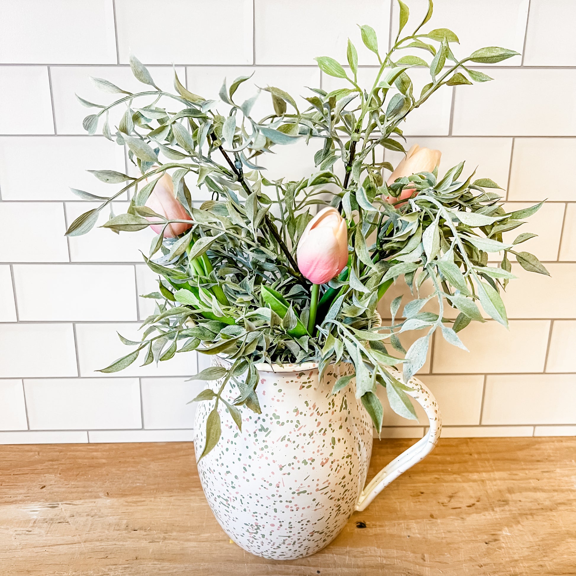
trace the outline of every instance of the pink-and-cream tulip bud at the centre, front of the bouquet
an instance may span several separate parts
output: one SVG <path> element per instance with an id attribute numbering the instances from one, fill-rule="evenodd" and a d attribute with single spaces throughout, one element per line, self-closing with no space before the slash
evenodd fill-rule
<path id="1" fill-rule="evenodd" d="M 296 252 L 298 268 L 313 284 L 324 284 L 348 263 L 348 229 L 335 208 L 320 210 L 306 226 Z"/>

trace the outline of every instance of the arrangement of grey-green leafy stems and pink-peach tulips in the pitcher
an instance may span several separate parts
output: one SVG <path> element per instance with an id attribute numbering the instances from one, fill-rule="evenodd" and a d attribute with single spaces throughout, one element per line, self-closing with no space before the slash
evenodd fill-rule
<path id="1" fill-rule="evenodd" d="M 468 66 L 517 53 L 487 47 L 458 59 L 452 31 L 419 33 L 430 20 L 432 2 L 406 36 L 408 7 L 401 1 L 399 6 L 398 33 L 386 54 L 374 30 L 360 26 L 362 42 L 380 63 L 372 86 L 358 84 L 357 51 L 348 40 L 347 69 L 328 56 L 316 58 L 324 74 L 343 79 L 347 88 L 310 89 L 306 110 L 272 86 L 237 103 L 236 90 L 249 79 L 241 76 L 222 85 L 219 98 L 230 111 L 221 115 L 217 101 L 189 92 L 176 73 L 176 93 L 158 88 L 134 56 L 132 72 L 149 89 L 130 93 L 92 78 L 98 88 L 119 94 L 118 100 L 104 106 L 79 98 L 96 109 L 84 119 L 85 129 L 94 134 L 102 124 L 106 138 L 127 146 L 138 176 L 93 171 L 99 180 L 123 187 L 109 197 L 74 190 L 100 204 L 77 218 L 67 234 L 87 233 L 100 211 L 127 191 L 127 213 L 111 213 L 104 227 L 119 233 L 150 226 L 157 233 L 143 256 L 159 275 L 158 291 L 144 296 L 156 300 L 156 311 L 144 321 L 141 341 L 120 336 L 135 350 L 101 372 L 122 370 L 141 354 L 143 365 L 192 350 L 228 359 L 228 369 L 214 366 L 194 377 L 221 381 L 217 391 L 207 388 L 195 399 L 214 403 L 202 455 L 220 436 L 218 403 L 238 427 L 240 410 L 260 412 L 259 363 L 317 362 L 320 376 L 331 364 L 351 363 L 357 397 L 377 430 L 382 424 L 377 386 L 385 387 L 393 410 L 415 418 L 406 382 L 425 362 L 433 332 L 464 348 L 457 333 L 471 321 L 484 321 L 479 305 L 507 325 L 499 293 L 515 278 L 509 253 L 525 270 L 548 274 L 536 256 L 516 251 L 535 234 L 522 233 L 510 243 L 502 238 L 541 204 L 506 213 L 494 181 L 463 176 L 464 162 L 439 178 L 439 151 L 403 146 L 404 120 L 436 90 L 490 81 Z M 406 55 L 406 49 L 427 59 Z M 422 66 L 430 82 L 418 95 L 410 71 Z M 262 92 L 272 106 L 256 120 L 251 111 Z M 160 107 L 160 98 L 171 104 Z M 108 111 L 116 106 L 126 111 L 112 132 Z M 267 155 L 303 140 L 317 171 L 298 181 L 267 179 Z M 380 161 L 384 149 L 406 157 L 393 168 Z M 209 190 L 212 199 L 196 206 L 190 181 Z M 495 253 L 502 254 L 499 267 L 488 266 Z M 433 290 L 424 296 L 419 291 L 425 281 Z M 405 282 L 412 299 L 400 318 L 401 297 L 395 298 L 392 320 L 382 325 L 376 307 L 395 282 Z M 422 311 L 429 301 L 436 302 L 437 312 Z M 449 307 L 457 310 L 455 319 L 445 317 Z M 409 330 L 423 335 L 406 351 L 398 335 Z M 400 364 L 403 381 L 389 370 Z M 351 378 L 340 378 L 333 392 Z M 225 397 L 227 385 L 232 392 Z"/>

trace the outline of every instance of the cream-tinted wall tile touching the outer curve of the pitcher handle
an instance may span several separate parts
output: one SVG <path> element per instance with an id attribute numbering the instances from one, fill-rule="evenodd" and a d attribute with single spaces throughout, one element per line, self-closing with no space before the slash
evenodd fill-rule
<path id="1" fill-rule="evenodd" d="M 471 374 L 426 376 L 420 379 L 433 393 L 446 426 L 468 426 L 480 423 L 484 377 Z M 428 418 L 420 420 L 428 425 Z"/>

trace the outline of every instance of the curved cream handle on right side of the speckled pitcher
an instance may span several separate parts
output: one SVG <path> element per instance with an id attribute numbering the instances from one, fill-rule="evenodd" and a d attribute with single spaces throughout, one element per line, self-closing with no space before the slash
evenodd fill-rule
<path id="1" fill-rule="evenodd" d="M 408 468 L 412 468 L 414 464 L 423 460 L 438 442 L 440 431 L 442 430 L 442 418 L 436 399 L 423 382 L 420 382 L 417 378 L 410 378 L 408 385 L 412 386 L 412 389 L 406 391 L 406 393 L 408 396 L 412 396 L 412 398 L 424 408 L 426 416 L 428 416 L 430 421 L 430 429 L 425 437 L 420 438 L 416 444 L 404 450 L 400 456 L 392 460 L 390 464 L 382 468 L 381 471 L 370 480 L 358 498 L 358 503 L 355 506 L 355 510 L 357 511 L 364 510 L 389 483 L 396 480 L 396 478 L 406 472 Z"/>

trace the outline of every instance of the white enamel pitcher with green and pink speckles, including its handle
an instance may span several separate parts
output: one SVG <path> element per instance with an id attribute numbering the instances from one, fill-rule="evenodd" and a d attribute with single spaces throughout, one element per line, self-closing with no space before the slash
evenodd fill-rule
<path id="1" fill-rule="evenodd" d="M 213 364 L 226 366 L 217 357 Z M 438 405 L 412 378 L 407 393 L 424 408 L 429 432 L 365 487 L 372 420 L 354 395 L 354 380 L 332 395 L 335 381 L 351 368 L 329 367 L 319 382 L 316 363 L 257 365 L 262 414 L 242 407 L 241 431 L 219 403 L 222 437 L 199 461 L 198 472 L 214 516 L 244 550 L 276 560 L 314 554 L 338 535 L 354 510 L 364 510 L 434 448 L 441 429 Z M 211 383 L 214 390 L 219 385 Z M 236 389 L 226 389 L 226 399 L 235 396 Z M 204 448 L 213 407 L 206 401 L 196 411 L 196 457 Z"/>

